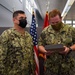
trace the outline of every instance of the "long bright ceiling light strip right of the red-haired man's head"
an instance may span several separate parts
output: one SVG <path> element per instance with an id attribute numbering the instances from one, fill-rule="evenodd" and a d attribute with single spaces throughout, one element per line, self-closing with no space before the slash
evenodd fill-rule
<path id="1" fill-rule="evenodd" d="M 62 19 L 65 18 L 66 14 L 67 14 L 68 11 L 70 10 L 70 8 L 71 8 L 71 6 L 73 5 L 74 1 L 75 1 L 75 0 L 68 0 L 68 1 L 67 1 L 66 5 L 65 5 L 65 8 L 64 8 L 64 10 L 63 10 L 63 12 L 62 12 L 62 14 L 61 14 Z"/>

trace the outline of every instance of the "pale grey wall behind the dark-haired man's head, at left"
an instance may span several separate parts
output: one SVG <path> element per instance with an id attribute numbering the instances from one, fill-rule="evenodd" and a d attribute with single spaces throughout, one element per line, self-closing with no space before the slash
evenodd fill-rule
<path id="1" fill-rule="evenodd" d="M 20 0 L 0 0 L 0 27 L 12 27 L 12 13 L 23 10 Z"/>

